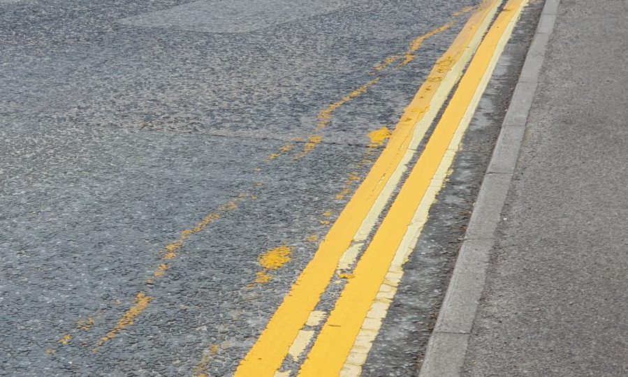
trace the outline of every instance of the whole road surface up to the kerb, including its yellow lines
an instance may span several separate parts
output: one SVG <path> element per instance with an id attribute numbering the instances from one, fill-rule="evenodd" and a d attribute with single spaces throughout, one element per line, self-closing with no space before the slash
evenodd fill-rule
<path id="1" fill-rule="evenodd" d="M 0 375 L 414 374 L 538 9 L 0 1 Z"/>

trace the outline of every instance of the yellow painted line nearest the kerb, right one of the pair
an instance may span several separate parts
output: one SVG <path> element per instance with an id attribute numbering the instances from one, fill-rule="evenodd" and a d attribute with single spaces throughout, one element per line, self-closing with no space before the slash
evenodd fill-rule
<path id="1" fill-rule="evenodd" d="M 469 124 L 504 45 L 511 36 L 518 15 L 526 3 L 527 0 L 510 0 L 502 13 L 499 13 L 469 64 L 467 72 L 460 80 L 458 89 L 425 146 L 425 151 L 418 158 L 390 211 L 360 258 L 353 271 L 353 279 L 346 284 L 307 360 L 302 364 L 298 376 L 339 375 L 360 328 L 364 324 L 372 329 L 377 327 L 377 319 L 367 318 L 367 314 L 377 297 L 381 283 L 387 274 L 397 275 L 400 279 L 400 272 L 388 272 L 388 269 L 407 233 L 410 239 L 416 237 L 416 232 L 423 226 L 426 216 L 421 216 L 416 221 L 417 209 L 425 198 L 432 179 L 437 175 L 442 161 L 449 160 L 451 163 L 453 152 L 449 149 L 452 142 L 455 142 L 456 135 L 461 138 L 464 131 L 460 131 L 460 128 L 464 130 Z"/>

